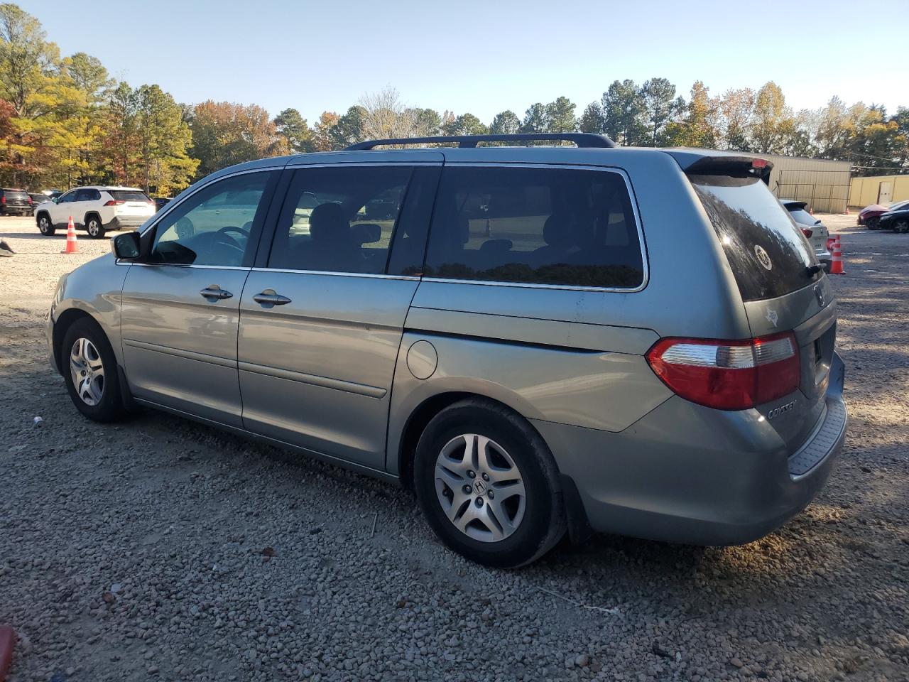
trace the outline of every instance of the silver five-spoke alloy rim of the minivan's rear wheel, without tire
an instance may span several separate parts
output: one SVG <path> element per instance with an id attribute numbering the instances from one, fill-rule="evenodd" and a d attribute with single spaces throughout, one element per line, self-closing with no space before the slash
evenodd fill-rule
<path id="1" fill-rule="evenodd" d="M 464 434 L 445 444 L 435 460 L 435 494 L 454 527 L 481 542 L 504 540 L 524 518 L 521 471 L 486 436 Z"/>

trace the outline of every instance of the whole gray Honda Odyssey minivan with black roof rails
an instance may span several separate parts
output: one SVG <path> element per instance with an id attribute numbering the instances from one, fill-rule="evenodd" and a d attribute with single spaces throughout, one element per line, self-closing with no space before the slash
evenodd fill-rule
<path id="1" fill-rule="evenodd" d="M 577 146 L 477 146 L 540 139 Z M 413 487 L 486 565 L 566 532 L 747 542 L 847 421 L 834 290 L 770 167 L 587 134 L 235 165 L 61 279 L 49 354 L 90 419 L 155 407 Z M 359 222 L 379 197 L 395 220 Z"/>

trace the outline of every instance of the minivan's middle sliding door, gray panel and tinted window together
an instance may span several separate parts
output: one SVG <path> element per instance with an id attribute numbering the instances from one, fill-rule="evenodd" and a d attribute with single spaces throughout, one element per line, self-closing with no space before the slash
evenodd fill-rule
<path id="1" fill-rule="evenodd" d="M 433 165 L 295 171 L 240 302 L 247 429 L 385 468 L 395 357 L 437 180 Z"/>

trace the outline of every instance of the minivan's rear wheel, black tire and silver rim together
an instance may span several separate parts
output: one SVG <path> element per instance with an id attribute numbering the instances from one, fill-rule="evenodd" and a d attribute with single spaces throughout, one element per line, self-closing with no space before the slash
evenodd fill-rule
<path id="1" fill-rule="evenodd" d="M 477 563 L 530 564 L 564 535 L 558 467 L 533 426 L 484 398 L 446 407 L 416 446 L 414 485 L 430 527 Z"/>

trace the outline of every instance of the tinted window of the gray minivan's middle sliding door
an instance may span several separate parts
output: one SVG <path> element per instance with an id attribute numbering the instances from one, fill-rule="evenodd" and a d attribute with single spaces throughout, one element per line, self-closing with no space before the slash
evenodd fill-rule
<path id="1" fill-rule="evenodd" d="M 385 273 L 412 173 L 406 166 L 297 170 L 275 228 L 268 266 Z"/>

